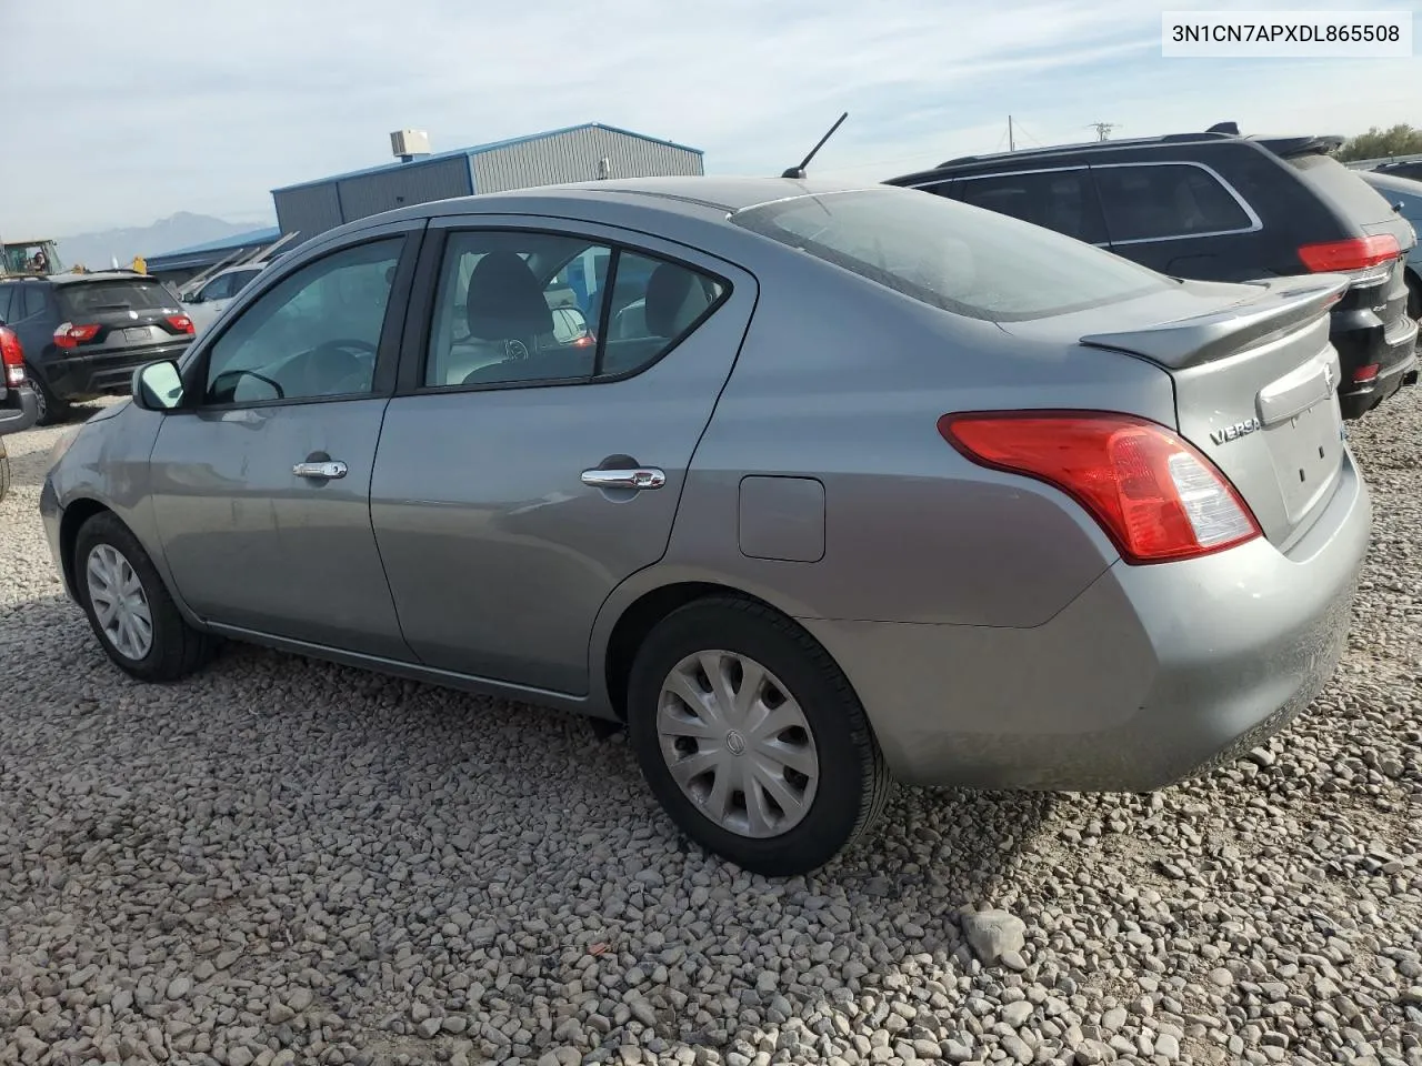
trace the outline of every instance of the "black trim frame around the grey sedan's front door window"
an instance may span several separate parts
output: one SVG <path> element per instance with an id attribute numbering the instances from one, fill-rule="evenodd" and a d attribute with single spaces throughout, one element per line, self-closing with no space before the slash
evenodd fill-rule
<path id="1" fill-rule="evenodd" d="M 395 391 L 395 372 L 410 306 L 411 277 L 424 242 L 424 223 L 425 219 L 419 219 L 417 226 L 401 225 L 397 229 L 377 227 L 373 230 L 361 230 L 356 239 L 344 240 L 330 247 L 311 249 L 310 254 L 286 264 L 289 267 L 286 270 L 273 270 L 270 271 L 270 276 L 253 279 L 252 283 L 237 294 L 243 297 L 243 300 L 242 304 L 235 308 L 235 313 L 230 316 L 223 314 L 222 318 L 218 320 L 220 323 L 220 328 L 202 338 L 201 350 L 193 351 L 193 348 L 189 348 L 192 360 L 188 365 L 181 368 L 185 402 L 168 414 L 220 414 L 225 411 L 257 411 L 264 408 L 304 407 L 309 404 L 348 404 L 361 399 L 388 399 Z M 239 321 L 242 316 L 247 313 L 247 308 L 252 304 L 262 300 L 262 297 L 264 297 L 276 286 L 282 284 L 286 279 L 299 274 L 314 263 L 350 252 L 351 249 L 364 247 L 367 244 L 378 244 L 385 240 L 398 240 L 401 242 L 401 246 L 400 257 L 395 263 L 395 277 L 391 280 L 390 286 L 390 303 L 385 306 L 385 320 L 381 324 L 380 340 L 375 345 L 375 370 L 368 392 L 347 392 L 337 397 L 280 397 L 277 399 L 245 399 L 233 404 L 205 402 L 208 392 L 208 365 L 212 358 L 212 350 L 232 330 L 233 323 Z M 262 273 L 267 274 L 266 270 Z M 237 297 L 235 296 L 232 298 L 236 301 Z M 229 307 L 229 310 L 232 308 Z M 189 397 L 192 398 L 189 399 Z"/>

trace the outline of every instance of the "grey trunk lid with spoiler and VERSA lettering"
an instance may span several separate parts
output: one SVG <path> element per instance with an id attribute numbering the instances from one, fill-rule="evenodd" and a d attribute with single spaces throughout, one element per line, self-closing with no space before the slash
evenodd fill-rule
<path id="1" fill-rule="evenodd" d="M 1166 294 L 1048 321 L 1091 348 L 1148 360 L 1175 382 L 1180 435 L 1233 482 L 1264 536 L 1287 550 L 1337 488 L 1344 432 L 1328 308 L 1338 274 L 1236 286 L 1186 281 Z"/>

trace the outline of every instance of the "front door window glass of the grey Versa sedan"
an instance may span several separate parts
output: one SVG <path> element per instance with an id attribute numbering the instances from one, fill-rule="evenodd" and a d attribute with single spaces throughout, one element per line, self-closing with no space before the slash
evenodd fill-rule
<path id="1" fill-rule="evenodd" d="M 368 394 L 402 247 L 357 244 L 277 281 L 209 350 L 205 402 Z"/>

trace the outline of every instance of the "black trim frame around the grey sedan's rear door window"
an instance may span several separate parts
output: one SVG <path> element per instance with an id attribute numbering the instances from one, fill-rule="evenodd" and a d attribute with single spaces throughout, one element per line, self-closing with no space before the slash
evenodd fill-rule
<path id="1" fill-rule="evenodd" d="M 501 216 L 506 219 L 508 216 Z M 526 222 L 512 222 L 512 220 L 485 220 L 478 215 L 459 215 L 447 216 L 444 219 L 432 219 L 437 223 L 431 227 L 429 237 L 424 242 L 419 254 L 419 269 L 415 271 L 414 290 L 418 293 L 418 298 L 412 298 L 410 303 L 410 310 L 405 320 L 404 331 L 404 345 L 401 347 L 401 372 L 400 381 L 395 388 L 395 395 L 449 395 L 458 392 L 501 392 L 506 389 L 520 389 L 520 388 L 557 388 L 566 385 L 610 385 L 619 381 L 627 381 L 630 378 L 640 377 L 648 370 L 656 367 L 658 362 L 665 360 L 671 352 L 681 347 L 681 344 L 700 330 L 707 320 L 715 314 L 721 307 L 724 307 L 729 300 L 731 294 L 735 291 L 735 286 L 729 277 L 724 273 L 712 270 L 710 267 L 698 266 L 690 263 L 685 259 L 680 259 L 673 254 L 663 252 L 653 252 L 646 246 L 633 244 L 621 236 L 606 236 L 590 233 L 579 226 L 586 226 L 589 229 L 596 229 L 597 223 L 587 223 L 570 219 L 572 229 L 555 227 L 552 225 L 526 223 Z M 705 310 L 701 311 L 677 337 L 671 338 L 670 343 L 663 348 L 657 358 L 641 367 L 626 371 L 623 374 L 596 374 L 602 367 L 604 343 L 607 337 L 609 323 L 602 323 L 602 331 L 597 338 L 597 348 L 593 352 L 593 370 L 594 374 L 580 374 L 570 378 L 532 378 L 525 381 L 483 381 L 475 382 L 472 385 L 456 384 L 456 385 L 429 385 L 425 384 L 425 372 L 428 370 L 429 360 L 429 340 L 434 334 L 434 317 L 435 304 L 439 300 L 439 283 L 444 280 L 444 260 L 445 250 L 449 244 L 449 239 L 454 235 L 471 233 L 471 232 L 486 232 L 486 233 L 526 233 L 532 236 L 550 236 L 562 237 L 570 240 L 586 240 L 589 244 L 599 244 L 606 247 L 613 253 L 616 260 L 621 259 L 621 253 L 631 253 L 634 256 L 643 256 L 644 259 L 654 260 L 657 263 L 671 263 L 673 266 L 680 266 L 684 270 L 690 270 L 701 277 L 707 277 L 721 286 L 721 294 L 707 304 Z M 607 311 L 606 301 L 611 298 L 613 284 L 616 284 L 614 267 L 616 262 L 609 262 L 607 264 L 607 279 L 604 281 L 607 293 L 604 294 L 603 314 Z M 562 269 L 562 267 L 560 267 Z"/>

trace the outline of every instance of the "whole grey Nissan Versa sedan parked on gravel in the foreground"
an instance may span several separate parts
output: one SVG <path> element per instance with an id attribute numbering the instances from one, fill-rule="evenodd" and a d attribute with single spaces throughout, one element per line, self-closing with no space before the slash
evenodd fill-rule
<path id="1" fill-rule="evenodd" d="M 1148 790 L 1314 698 L 1371 524 L 1345 286 L 884 186 L 441 200 L 263 271 L 40 506 L 137 678 L 233 638 L 623 721 L 793 874 L 892 782 Z"/>

